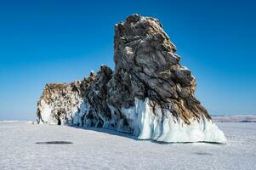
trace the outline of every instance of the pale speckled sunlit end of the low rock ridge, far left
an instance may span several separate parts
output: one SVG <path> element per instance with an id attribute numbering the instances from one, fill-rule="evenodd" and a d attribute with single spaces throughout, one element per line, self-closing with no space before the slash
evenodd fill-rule
<path id="1" fill-rule="evenodd" d="M 37 122 L 69 124 L 82 104 L 82 96 L 77 90 L 80 84 L 81 82 L 47 84 L 37 103 Z"/>

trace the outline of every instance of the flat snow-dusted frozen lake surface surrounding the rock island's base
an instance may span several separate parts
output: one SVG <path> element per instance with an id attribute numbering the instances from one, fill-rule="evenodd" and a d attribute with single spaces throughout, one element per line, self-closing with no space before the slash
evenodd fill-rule
<path id="1" fill-rule="evenodd" d="M 256 169 L 256 123 L 217 124 L 228 144 L 158 144 L 111 130 L 0 122 L 0 169 Z"/>

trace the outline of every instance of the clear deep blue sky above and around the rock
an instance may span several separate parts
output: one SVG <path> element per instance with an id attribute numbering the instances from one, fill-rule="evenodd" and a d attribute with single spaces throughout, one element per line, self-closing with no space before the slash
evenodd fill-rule
<path id="1" fill-rule="evenodd" d="M 210 114 L 256 114 L 253 1 L 0 1 L 0 119 L 36 119 L 46 82 L 114 66 L 114 24 L 158 18 Z"/>

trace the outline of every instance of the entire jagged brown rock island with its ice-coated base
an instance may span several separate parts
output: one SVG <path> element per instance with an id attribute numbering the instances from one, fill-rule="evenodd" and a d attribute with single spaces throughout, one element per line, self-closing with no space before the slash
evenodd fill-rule
<path id="1" fill-rule="evenodd" d="M 115 70 L 102 65 L 80 82 L 47 84 L 38 122 L 111 128 L 163 142 L 225 143 L 175 52 L 158 20 L 128 16 L 115 26 Z"/>

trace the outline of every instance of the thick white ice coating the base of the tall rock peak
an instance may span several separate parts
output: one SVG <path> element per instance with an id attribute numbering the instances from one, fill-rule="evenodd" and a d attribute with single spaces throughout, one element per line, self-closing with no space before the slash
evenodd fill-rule
<path id="1" fill-rule="evenodd" d="M 152 110 L 150 100 L 135 99 L 135 106 L 122 109 L 134 127 L 138 139 L 153 139 L 161 142 L 216 142 L 226 143 L 225 135 L 210 120 L 201 116 L 185 124 L 169 111 Z M 157 114 L 157 116 L 156 116 Z"/>

